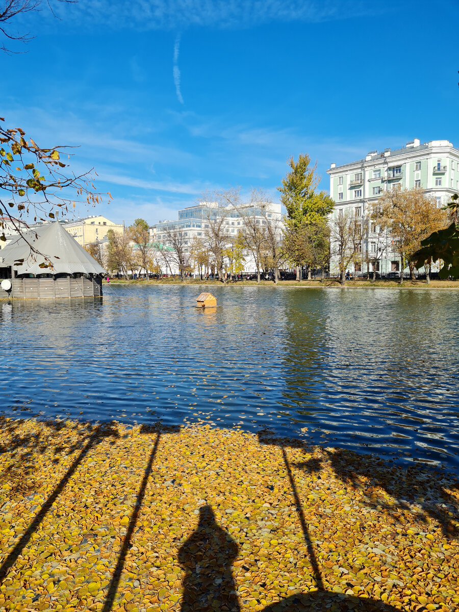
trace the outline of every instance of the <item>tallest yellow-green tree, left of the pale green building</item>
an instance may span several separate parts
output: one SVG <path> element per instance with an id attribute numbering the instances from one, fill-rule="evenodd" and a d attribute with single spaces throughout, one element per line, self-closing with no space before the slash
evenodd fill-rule
<path id="1" fill-rule="evenodd" d="M 288 241 L 293 241 L 293 233 L 304 231 L 304 226 L 324 220 L 333 211 L 335 203 L 326 191 L 318 191 L 320 177 L 316 173 L 317 162 L 312 166 L 308 154 L 300 153 L 298 160 L 288 160 L 291 170 L 278 187 L 280 201 L 286 207 L 286 228 Z M 298 244 L 302 236 L 298 237 Z M 297 280 L 300 280 L 297 266 Z"/>

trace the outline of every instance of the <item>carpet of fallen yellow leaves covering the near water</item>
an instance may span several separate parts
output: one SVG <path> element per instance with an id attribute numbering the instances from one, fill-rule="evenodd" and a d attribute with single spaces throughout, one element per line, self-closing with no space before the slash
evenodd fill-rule
<path id="1" fill-rule="evenodd" d="M 455 479 L 201 424 L 0 419 L 0 610 L 459 608 Z"/>

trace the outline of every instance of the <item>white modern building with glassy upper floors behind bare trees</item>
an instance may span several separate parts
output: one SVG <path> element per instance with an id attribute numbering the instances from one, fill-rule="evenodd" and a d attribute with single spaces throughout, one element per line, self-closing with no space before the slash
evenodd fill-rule
<path id="1" fill-rule="evenodd" d="M 239 231 L 244 230 L 245 218 L 250 217 L 255 220 L 260 226 L 270 224 L 278 237 L 278 241 L 282 240 L 282 213 L 280 204 L 263 203 L 263 212 L 261 205 L 257 206 L 254 203 L 242 204 L 241 206 L 220 207 L 215 202 L 200 202 L 194 206 L 188 206 L 178 211 L 176 220 L 159 221 L 150 228 L 151 241 L 155 244 L 163 244 L 170 246 L 168 240 L 168 231 L 178 230 L 181 232 L 184 239 L 184 247 L 188 254 L 192 248 L 195 239 L 206 242 L 207 232 L 209 230 L 209 218 L 221 216 L 224 219 L 225 234 L 228 239 L 228 244 L 236 239 Z M 244 252 L 245 271 L 256 272 L 255 263 L 250 253 Z M 173 269 L 176 274 L 178 269 Z M 197 274 L 197 269 L 195 274 Z"/>

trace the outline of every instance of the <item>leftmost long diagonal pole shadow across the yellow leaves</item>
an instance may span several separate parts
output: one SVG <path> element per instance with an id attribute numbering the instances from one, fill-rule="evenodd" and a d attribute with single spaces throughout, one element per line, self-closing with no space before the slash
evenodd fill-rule
<path id="1" fill-rule="evenodd" d="M 61 480 L 59 480 L 59 483 L 56 485 L 56 487 L 54 487 L 53 492 L 50 494 L 50 496 L 48 496 L 46 501 L 43 502 L 42 507 L 35 515 L 34 520 L 32 520 L 26 531 L 24 531 L 18 542 L 14 545 L 12 550 L 7 554 L 6 558 L 0 565 L 0 585 L 7 577 L 10 569 L 17 561 L 24 547 L 28 545 L 28 542 L 31 539 L 32 535 L 35 531 L 37 531 L 40 526 L 40 523 L 42 523 L 43 519 L 51 509 L 51 506 L 53 506 L 56 499 L 58 499 L 59 495 L 62 493 L 62 490 L 64 490 L 65 485 L 67 485 L 70 478 L 73 476 L 78 466 L 81 465 L 81 462 L 84 460 L 86 455 L 88 455 L 89 451 L 93 449 L 94 446 L 101 439 L 110 436 L 118 438 L 118 430 L 113 428 L 111 425 L 99 425 L 97 427 L 91 428 L 91 435 L 85 436 L 85 438 L 78 442 L 78 446 L 81 446 L 81 444 L 84 444 L 84 441 L 86 439 L 86 444 L 84 444 L 83 449 L 80 450 L 80 453 L 78 453 L 78 455 L 72 461 L 64 476 L 62 476 Z"/>

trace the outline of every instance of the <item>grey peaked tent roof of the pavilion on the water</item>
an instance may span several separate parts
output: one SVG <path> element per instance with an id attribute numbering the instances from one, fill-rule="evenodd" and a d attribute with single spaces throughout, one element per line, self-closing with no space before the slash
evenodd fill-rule
<path id="1" fill-rule="evenodd" d="M 37 253 L 32 253 L 29 244 Z M 47 257 L 52 268 L 40 268 Z M 3 261 L 1 261 L 3 259 Z M 24 259 L 22 265 L 15 264 Z M 95 259 L 65 231 L 59 222 L 37 226 L 15 237 L 0 250 L 0 267 L 13 266 L 18 274 L 101 274 L 105 272 Z"/>

